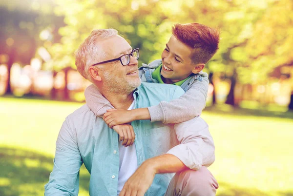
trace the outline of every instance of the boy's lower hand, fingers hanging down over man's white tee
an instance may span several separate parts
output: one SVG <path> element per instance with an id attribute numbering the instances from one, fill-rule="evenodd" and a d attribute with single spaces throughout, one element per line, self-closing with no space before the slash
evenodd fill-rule
<path id="1" fill-rule="evenodd" d="M 125 147 L 131 146 L 135 139 L 133 127 L 130 124 L 121 124 L 113 126 L 113 129 L 119 134 L 119 141 L 123 141 Z"/>

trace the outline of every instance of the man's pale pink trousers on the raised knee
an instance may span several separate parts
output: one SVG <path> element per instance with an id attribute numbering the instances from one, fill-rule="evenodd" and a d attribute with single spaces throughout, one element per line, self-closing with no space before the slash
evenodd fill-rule
<path id="1" fill-rule="evenodd" d="M 215 196 L 217 180 L 206 167 L 177 172 L 171 179 L 165 196 Z"/>

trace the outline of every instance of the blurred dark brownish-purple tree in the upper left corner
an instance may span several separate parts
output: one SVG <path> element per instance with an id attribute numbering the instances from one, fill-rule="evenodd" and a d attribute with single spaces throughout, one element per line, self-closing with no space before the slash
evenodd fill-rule
<path id="1" fill-rule="evenodd" d="M 59 41 L 60 36 L 55 34 L 55 40 L 43 41 L 40 39 L 40 32 L 46 28 L 54 29 L 63 25 L 60 17 L 52 13 L 52 4 L 33 0 L 10 1 L 0 3 L 0 54 L 8 55 L 6 62 L 8 66 L 7 93 L 10 89 L 10 69 L 13 63 L 19 62 L 22 65 L 30 64 L 36 55 L 39 46 L 50 45 Z"/>

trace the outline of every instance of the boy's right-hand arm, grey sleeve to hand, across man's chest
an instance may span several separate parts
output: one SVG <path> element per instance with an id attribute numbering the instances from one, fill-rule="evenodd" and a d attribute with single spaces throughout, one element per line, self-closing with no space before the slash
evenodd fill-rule
<path id="1" fill-rule="evenodd" d="M 133 120 L 162 121 L 163 123 L 179 123 L 199 116 L 206 106 L 209 89 L 208 74 L 202 77 L 203 80 L 194 80 L 188 91 L 180 98 L 173 97 L 173 100 L 161 101 L 159 105 L 148 108 L 137 108 L 133 110 L 108 110 L 104 115 L 107 125 L 112 128 L 114 125 L 124 124 Z"/>

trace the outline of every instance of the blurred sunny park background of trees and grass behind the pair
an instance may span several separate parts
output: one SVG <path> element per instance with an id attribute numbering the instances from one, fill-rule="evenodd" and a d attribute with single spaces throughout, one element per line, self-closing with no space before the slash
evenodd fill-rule
<path id="1" fill-rule="evenodd" d="M 217 196 L 293 196 L 293 0 L 1 0 L 0 196 L 40 196 L 65 117 L 89 82 L 74 51 L 115 28 L 160 59 L 174 23 L 219 28 L 202 117 L 216 146 Z M 84 166 L 80 195 L 88 195 Z"/>

